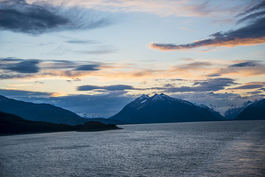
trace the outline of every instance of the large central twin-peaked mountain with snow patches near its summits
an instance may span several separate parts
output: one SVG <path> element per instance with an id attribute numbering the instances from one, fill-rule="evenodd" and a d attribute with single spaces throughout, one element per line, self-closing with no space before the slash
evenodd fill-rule
<path id="1" fill-rule="evenodd" d="M 214 121 L 224 118 L 206 107 L 165 94 L 152 97 L 142 95 L 110 118 L 141 124 Z"/>

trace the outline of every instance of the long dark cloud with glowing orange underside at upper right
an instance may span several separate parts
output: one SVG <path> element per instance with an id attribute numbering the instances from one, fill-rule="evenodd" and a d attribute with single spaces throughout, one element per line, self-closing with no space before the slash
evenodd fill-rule
<path id="1" fill-rule="evenodd" d="M 251 20 L 251 23 L 237 30 L 229 30 L 226 32 L 216 32 L 209 35 L 211 38 L 196 40 L 187 44 L 173 44 L 151 42 L 150 49 L 158 49 L 161 51 L 172 50 L 189 50 L 197 47 L 235 47 L 239 45 L 257 45 L 265 43 L 265 11 L 256 12 L 248 15 L 238 22 Z"/>

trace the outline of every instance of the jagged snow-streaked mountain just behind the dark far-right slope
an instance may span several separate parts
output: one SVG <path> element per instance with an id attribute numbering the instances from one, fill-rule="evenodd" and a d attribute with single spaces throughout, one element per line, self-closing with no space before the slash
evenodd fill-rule
<path id="1" fill-rule="evenodd" d="M 226 117 L 226 119 L 234 119 L 238 114 L 240 114 L 246 107 L 253 104 L 257 100 L 251 102 L 251 101 L 245 101 L 241 106 L 236 106 L 235 104 L 227 105 L 227 107 L 230 107 L 223 115 Z"/>

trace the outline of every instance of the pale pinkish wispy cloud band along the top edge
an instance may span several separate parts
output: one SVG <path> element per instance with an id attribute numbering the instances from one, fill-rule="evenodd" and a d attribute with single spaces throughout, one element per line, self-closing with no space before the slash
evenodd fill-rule
<path id="1" fill-rule="evenodd" d="M 44 0 L 54 5 L 60 4 L 58 1 Z M 36 1 L 32 1 L 36 3 Z M 40 1 L 42 2 L 42 1 Z M 219 1 L 175 1 L 175 0 L 118 0 L 118 1 L 105 1 L 105 0 L 76 0 L 76 1 L 64 1 L 66 6 L 72 6 L 73 4 L 79 4 L 83 8 L 97 9 L 104 12 L 144 12 L 159 15 L 165 17 L 169 15 L 180 17 L 216 17 L 226 16 L 229 14 L 238 14 L 242 7 L 242 4 L 234 5 L 226 1 L 226 8 L 223 3 Z M 250 3 L 246 3 L 248 6 Z"/>

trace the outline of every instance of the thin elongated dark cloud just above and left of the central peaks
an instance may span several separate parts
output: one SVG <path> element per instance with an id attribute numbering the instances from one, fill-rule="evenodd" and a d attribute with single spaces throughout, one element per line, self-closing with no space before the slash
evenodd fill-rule
<path id="1" fill-rule="evenodd" d="M 133 86 L 129 85 L 110 85 L 110 86 L 93 86 L 93 85 L 84 85 L 84 86 L 77 86 L 77 91 L 93 91 L 93 90 L 107 90 L 107 91 L 122 91 L 122 90 L 143 90 L 134 88 Z"/>

